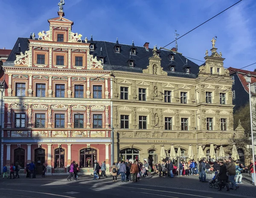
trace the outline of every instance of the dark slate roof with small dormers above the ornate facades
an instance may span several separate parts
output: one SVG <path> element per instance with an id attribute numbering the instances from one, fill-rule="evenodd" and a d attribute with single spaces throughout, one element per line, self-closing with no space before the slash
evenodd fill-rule
<path id="1" fill-rule="evenodd" d="M 14 61 L 16 59 L 15 52 L 19 50 L 19 43 L 21 52 L 25 53 L 25 51 L 28 50 L 28 38 L 18 38 L 6 62 Z M 142 70 L 146 69 L 148 66 L 148 58 L 153 55 L 153 49 L 149 48 L 148 51 L 146 51 L 145 47 L 136 46 L 136 43 L 134 43 L 134 47 L 136 48 L 136 55 L 132 55 L 132 58 L 134 60 L 134 67 L 129 67 L 128 60 L 130 57 L 131 48 L 133 48 L 132 45 L 125 45 L 119 43 L 118 45 L 121 47 L 120 53 L 116 53 L 114 49 L 116 43 L 93 40 L 93 44 L 94 50 L 90 51 L 91 55 L 100 56 L 102 47 L 102 54 L 105 59 L 104 70 L 115 69 L 119 71 L 142 73 Z M 162 49 L 158 50 L 158 52 L 160 52 L 160 58 L 162 59 L 161 66 L 163 67 L 163 70 L 168 73 L 169 76 L 189 78 L 197 77 L 199 72 L 199 66 L 196 63 L 192 62 L 189 59 L 187 60 L 187 63 L 190 66 L 190 74 L 186 74 L 184 68 L 187 59 L 186 57 L 176 52 L 169 52 Z M 173 61 L 171 61 L 170 58 L 171 54 L 174 55 Z M 175 72 L 171 72 L 170 66 L 172 65 L 175 66 Z"/>

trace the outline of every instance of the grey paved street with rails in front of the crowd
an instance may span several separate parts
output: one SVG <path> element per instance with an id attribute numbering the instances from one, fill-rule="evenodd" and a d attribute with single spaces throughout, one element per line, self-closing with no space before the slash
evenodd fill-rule
<path id="1" fill-rule="evenodd" d="M 0 180 L 1 198 L 84 198 L 93 196 L 94 198 L 109 198 L 120 196 L 130 198 L 140 196 L 147 198 L 169 197 L 169 198 L 225 198 L 255 197 L 255 189 L 250 184 L 249 178 L 244 176 L 244 184 L 238 190 L 226 192 L 217 191 L 210 188 L 208 183 L 201 183 L 197 176 L 159 178 L 157 175 L 151 178 L 141 178 L 138 183 L 113 182 L 112 177 L 93 180 L 93 176 L 82 175 L 78 181 L 67 181 L 64 175 L 48 176 L 46 178 L 29 179 L 22 176 L 20 179 Z"/>

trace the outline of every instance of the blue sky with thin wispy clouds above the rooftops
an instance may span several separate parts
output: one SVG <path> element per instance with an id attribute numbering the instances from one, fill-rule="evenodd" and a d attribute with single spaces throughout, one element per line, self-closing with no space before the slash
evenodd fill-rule
<path id="1" fill-rule="evenodd" d="M 151 48 L 165 46 L 238 0 L 66 0 L 65 17 L 74 22 L 72 32 L 84 39 L 105 40 Z M 59 0 L 0 0 L 0 48 L 12 49 L 17 37 L 49 30 L 47 19 L 57 15 Z M 224 67 L 241 68 L 256 62 L 256 1 L 243 0 L 178 40 L 184 56 L 204 60 L 211 39 L 222 52 Z M 172 43 L 170 47 L 175 47 Z M 201 62 L 193 60 L 197 64 Z M 254 70 L 256 64 L 245 69 Z"/>

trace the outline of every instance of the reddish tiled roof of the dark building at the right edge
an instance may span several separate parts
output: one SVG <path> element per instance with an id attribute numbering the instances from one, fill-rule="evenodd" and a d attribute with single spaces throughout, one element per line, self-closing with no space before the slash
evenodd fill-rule
<path id="1" fill-rule="evenodd" d="M 233 74 L 237 74 L 241 84 L 243 85 L 243 87 L 244 87 L 244 89 L 247 93 L 249 93 L 249 86 L 248 86 L 249 83 L 246 82 L 246 79 L 244 78 L 245 75 L 250 73 L 250 75 L 252 75 L 251 76 L 251 84 L 253 84 L 253 83 L 256 84 L 256 72 L 251 72 L 251 71 L 247 71 L 247 70 L 244 70 L 244 69 L 236 69 L 236 68 L 233 68 L 233 67 L 229 67 L 228 70 L 230 71 L 231 76 Z M 256 93 L 251 92 L 251 94 L 253 96 L 256 96 Z"/>

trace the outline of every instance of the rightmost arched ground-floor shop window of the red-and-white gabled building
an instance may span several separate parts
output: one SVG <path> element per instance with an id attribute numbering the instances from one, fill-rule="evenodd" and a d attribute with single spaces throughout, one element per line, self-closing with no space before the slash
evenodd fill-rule
<path id="1" fill-rule="evenodd" d="M 93 167 L 94 160 L 97 160 L 97 150 L 95 149 L 80 150 L 80 168 Z"/>

